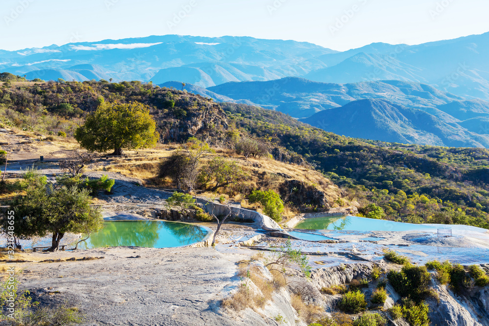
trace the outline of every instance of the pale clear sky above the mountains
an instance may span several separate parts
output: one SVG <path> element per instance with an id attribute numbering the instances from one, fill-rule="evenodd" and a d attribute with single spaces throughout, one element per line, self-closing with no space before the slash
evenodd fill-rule
<path id="1" fill-rule="evenodd" d="M 482 34 L 488 12 L 487 0 L 2 0 L 0 49 L 178 34 L 344 51 Z"/>

